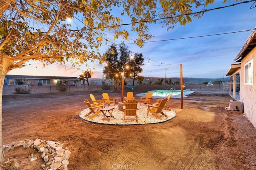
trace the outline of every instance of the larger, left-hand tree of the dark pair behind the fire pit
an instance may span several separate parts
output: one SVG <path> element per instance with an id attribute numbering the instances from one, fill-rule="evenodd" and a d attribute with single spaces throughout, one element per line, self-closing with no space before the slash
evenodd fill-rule
<path id="1" fill-rule="evenodd" d="M 126 66 L 128 66 L 130 51 L 124 43 L 121 43 L 119 49 L 116 45 L 111 45 L 105 55 L 107 65 L 103 68 L 104 77 L 110 80 L 114 84 L 114 90 L 118 91 L 121 86 L 122 73 L 125 72 Z M 125 77 L 127 76 L 128 73 L 125 74 Z"/>

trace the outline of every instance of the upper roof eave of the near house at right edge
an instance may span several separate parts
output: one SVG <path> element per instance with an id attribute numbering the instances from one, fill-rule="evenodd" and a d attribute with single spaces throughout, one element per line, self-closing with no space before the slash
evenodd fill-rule
<path id="1" fill-rule="evenodd" d="M 252 49 L 256 47 L 256 27 L 253 29 L 251 35 L 248 37 L 242 49 L 236 55 L 234 63 L 242 61 L 246 55 L 248 55 Z"/>

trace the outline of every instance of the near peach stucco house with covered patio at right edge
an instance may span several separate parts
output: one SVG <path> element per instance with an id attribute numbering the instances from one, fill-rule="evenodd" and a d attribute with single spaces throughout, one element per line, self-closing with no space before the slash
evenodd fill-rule
<path id="1" fill-rule="evenodd" d="M 226 76 L 233 79 L 233 98 L 236 98 L 236 76 L 240 76 L 240 101 L 249 121 L 256 127 L 256 27 L 234 59 Z M 230 94 L 231 88 L 230 88 Z"/>

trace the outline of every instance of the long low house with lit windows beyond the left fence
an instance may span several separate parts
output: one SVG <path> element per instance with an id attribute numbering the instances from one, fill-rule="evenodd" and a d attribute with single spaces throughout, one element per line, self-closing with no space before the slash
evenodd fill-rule
<path id="1" fill-rule="evenodd" d="M 24 75 L 6 75 L 4 86 L 28 85 L 28 86 L 56 86 L 57 84 L 81 85 L 77 77 L 59 77 L 59 76 L 24 76 Z"/>

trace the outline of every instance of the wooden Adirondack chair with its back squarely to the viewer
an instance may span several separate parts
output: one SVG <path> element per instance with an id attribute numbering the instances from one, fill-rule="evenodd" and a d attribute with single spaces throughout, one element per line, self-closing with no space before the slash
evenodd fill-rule
<path id="1" fill-rule="evenodd" d="M 131 100 L 126 100 L 125 101 L 125 107 L 124 108 L 124 123 L 126 123 L 126 120 L 136 120 L 138 123 L 138 115 L 137 115 L 137 108 L 138 106 L 138 101 L 131 99 Z M 129 118 L 126 118 L 129 117 Z M 135 117 L 135 118 L 131 118 L 131 117 Z"/>

